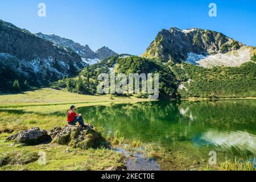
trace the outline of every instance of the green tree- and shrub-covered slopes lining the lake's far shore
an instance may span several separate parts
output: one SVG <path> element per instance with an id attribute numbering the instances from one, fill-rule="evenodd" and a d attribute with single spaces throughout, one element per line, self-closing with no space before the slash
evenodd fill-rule
<path id="1" fill-rule="evenodd" d="M 253 60 L 253 57 L 251 57 Z M 256 64 L 240 67 L 203 68 L 183 62 L 162 64 L 154 59 L 118 55 L 82 69 L 79 76 L 64 78 L 52 88 L 67 88 L 70 92 L 97 93 L 97 77 L 101 73 L 159 73 L 161 98 L 227 98 L 256 97 Z"/>

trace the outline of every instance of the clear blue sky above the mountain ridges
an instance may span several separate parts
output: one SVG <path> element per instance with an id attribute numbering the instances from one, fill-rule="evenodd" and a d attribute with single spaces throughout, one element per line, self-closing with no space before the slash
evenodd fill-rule
<path id="1" fill-rule="evenodd" d="M 46 17 L 38 4 L 46 4 Z M 217 17 L 209 17 L 209 3 Z M 31 32 L 56 34 L 118 53 L 141 55 L 162 28 L 205 28 L 256 46 L 256 1 L 0 0 L 0 19 Z"/>

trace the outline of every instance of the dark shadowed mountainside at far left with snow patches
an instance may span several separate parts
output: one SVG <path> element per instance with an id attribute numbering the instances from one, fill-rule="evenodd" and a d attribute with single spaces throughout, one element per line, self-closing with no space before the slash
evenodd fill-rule
<path id="1" fill-rule="evenodd" d="M 75 76 L 86 64 L 71 49 L 0 20 L 0 75 L 8 86 L 16 78 L 30 85 L 48 85 Z M 13 75 L 11 75 L 13 73 Z"/>

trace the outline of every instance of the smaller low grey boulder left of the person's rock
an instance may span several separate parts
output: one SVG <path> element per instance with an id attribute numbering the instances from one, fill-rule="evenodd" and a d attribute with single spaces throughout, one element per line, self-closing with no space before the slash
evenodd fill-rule
<path id="1" fill-rule="evenodd" d="M 40 130 L 39 127 L 34 127 L 11 135 L 7 140 L 15 140 L 18 143 L 39 144 L 51 141 L 51 137 L 47 134 L 46 130 Z"/>

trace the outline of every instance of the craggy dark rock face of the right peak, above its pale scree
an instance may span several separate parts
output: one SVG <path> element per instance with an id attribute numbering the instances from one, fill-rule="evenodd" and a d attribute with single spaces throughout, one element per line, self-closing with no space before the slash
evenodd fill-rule
<path id="1" fill-rule="evenodd" d="M 245 45 L 220 32 L 200 28 L 188 30 L 170 28 L 158 33 L 143 56 L 154 57 L 163 62 L 181 63 L 196 56 L 200 59 L 200 56 L 226 53 L 240 49 L 242 46 Z"/>

